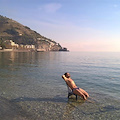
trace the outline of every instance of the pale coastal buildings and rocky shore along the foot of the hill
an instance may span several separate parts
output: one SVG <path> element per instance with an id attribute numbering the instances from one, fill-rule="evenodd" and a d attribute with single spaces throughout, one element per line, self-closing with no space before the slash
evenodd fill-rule
<path id="1" fill-rule="evenodd" d="M 46 42 L 49 42 L 48 40 L 44 40 Z M 43 42 L 39 38 L 39 42 Z M 5 40 L 4 45 L 5 47 L 0 46 L 0 51 L 37 51 L 37 52 L 43 52 L 43 51 L 51 51 L 51 48 L 53 49 L 53 46 L 57 47 L 58 44 L 49 42 L 49 46 L 46 46 L 45 43 L 39 44 L 39 45 L 23 45 L 23 44 L 16 44 L 12 40 Z M 68 51 L 67 48 L 59 48 L 59 49 L 53 49 L 53 51 Z"/>

